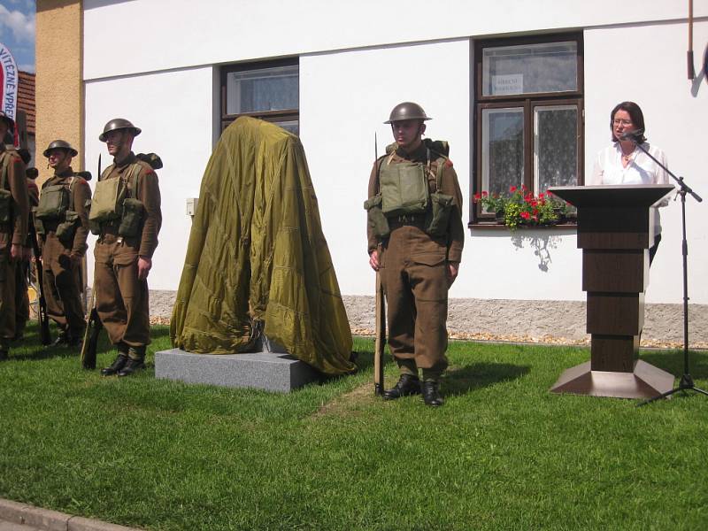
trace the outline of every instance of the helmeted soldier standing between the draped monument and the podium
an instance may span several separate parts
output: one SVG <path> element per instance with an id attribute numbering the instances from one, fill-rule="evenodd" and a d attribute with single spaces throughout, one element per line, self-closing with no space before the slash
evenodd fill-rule
<path id="1" fill-rule="evenodd" d="M 384 123 L 396 142 L 373 165 L 365 207 L 369 264 L 381 272 L 389 349 L 401 372 L 383 396 L 422 392 L 427 405 L 438 406 L 439 379 L 448 366 L 448 289 L 458 276 L 465 235 L 458 176 L 442 152 L 447 143 L 421 138 L 428 119 L 418 104 L 394 107 Z"/>

